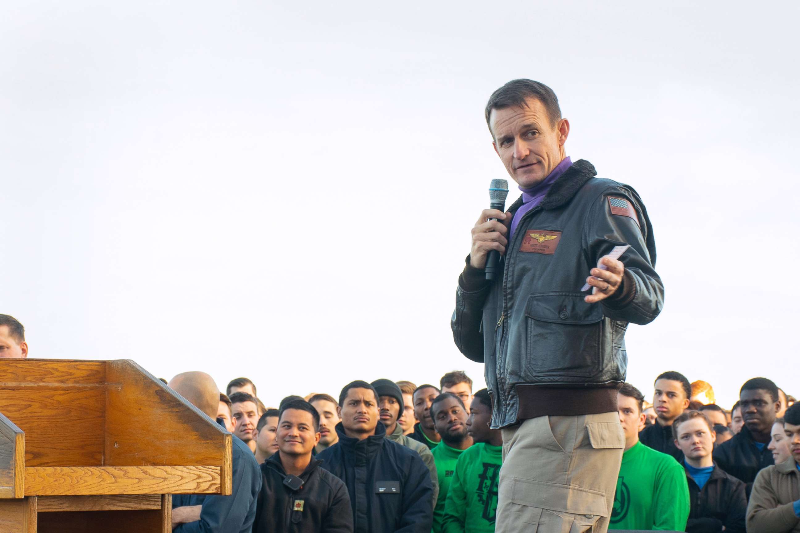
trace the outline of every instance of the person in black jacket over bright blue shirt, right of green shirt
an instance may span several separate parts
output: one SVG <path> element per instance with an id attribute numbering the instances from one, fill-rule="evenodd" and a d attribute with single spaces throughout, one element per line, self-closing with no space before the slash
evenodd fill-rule
<path id="1" fill-rule="evenodd" d="M 714 429 L 706 412 L 686 411 L 672 424 L 684 456 L 691 503 L 688 533 L 745 533 L 745 484 L 714 465 Z"/>

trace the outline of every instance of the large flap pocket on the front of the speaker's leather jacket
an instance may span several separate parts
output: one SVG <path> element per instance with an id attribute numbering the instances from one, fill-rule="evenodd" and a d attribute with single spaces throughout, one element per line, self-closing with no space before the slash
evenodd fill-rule
<path id="1" fill-rule="evenodd" d="M 539 292 L 526 307 L 526 369 L 537 376 L 594 376 L 602 368 L 603 314 L 581 292 Z"/>

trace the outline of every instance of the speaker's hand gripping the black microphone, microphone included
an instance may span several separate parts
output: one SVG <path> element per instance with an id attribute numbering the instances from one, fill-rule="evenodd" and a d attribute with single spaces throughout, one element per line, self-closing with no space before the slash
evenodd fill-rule
<path id="1" fill-rule="evenodd" d="M 506 235 L 511 224 L 511 213 L 503 213 L 508 182 L 492 180 L 489 189 L 490 209 L 484 209 L 472 229 L 470 265 L 486 268 L 486 279 L 492 280 L 500 274 L 500 256 L 506 253 Z"/>

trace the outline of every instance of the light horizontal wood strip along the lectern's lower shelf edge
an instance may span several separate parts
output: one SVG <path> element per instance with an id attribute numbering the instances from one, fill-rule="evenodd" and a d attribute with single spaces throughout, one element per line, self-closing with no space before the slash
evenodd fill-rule
<path id="1" fill-rule="evenodd" d="M 26 495 L 219 493 L 219 467 L 32 467 Z"/>

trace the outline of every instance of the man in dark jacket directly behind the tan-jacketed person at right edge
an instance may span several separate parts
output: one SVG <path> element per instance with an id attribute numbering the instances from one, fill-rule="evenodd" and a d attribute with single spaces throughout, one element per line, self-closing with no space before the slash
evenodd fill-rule
<path id="1" fill-rule="evenodd" d="M 767 445 L 772 439 L 772 425 L 781 409 L 778 386 L 764 377 L 747 380 L 739 391 L 739 409 L 744 426 L 733 439 L 714 450 L 714 463 L 742 479 L 749 495 L 758 471 L 774 464 Z"/>

